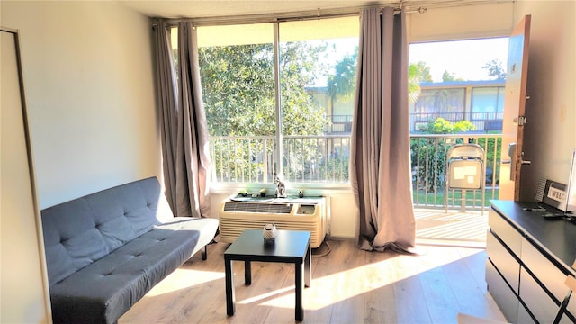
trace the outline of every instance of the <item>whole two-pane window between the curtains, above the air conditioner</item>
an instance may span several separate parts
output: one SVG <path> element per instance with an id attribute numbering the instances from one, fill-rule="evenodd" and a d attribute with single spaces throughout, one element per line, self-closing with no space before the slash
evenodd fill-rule
<path id="1" fill-rule="evenodd" d="M 347 183 L 358 29 L 358 17 L 198 27 L 215 181 Z"/>

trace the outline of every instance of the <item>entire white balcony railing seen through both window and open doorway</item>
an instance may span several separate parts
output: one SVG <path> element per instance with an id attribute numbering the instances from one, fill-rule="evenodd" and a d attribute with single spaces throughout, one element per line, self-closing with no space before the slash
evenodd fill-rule
<path id="1" fill-rule="evenodd" d="M 476 143 L 485 151 L 484 202 L 468 197 L 468 206 L 488 205 L 498 198 L 501 135 L 410 136 L 415 206 L 446 205 L 446 153 L 460 143 Z M 220 184 L 273 183 L 277 161 L 275 137 L 211 137 L 212 179 Z M 286 136 L 283 139 L 284 177 L 299 184 L 347 184 L 350 135 Z M 460 205 L 459 194 L 453 204 Z M 472 193 L 468 193 L 470 195 Z"/>

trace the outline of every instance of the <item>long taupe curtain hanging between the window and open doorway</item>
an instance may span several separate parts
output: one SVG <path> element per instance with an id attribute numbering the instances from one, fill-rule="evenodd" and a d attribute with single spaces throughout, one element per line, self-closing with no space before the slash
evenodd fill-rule
<path id="1" fill-rule="evenodd" d="M 350 180 L 357 244 L 365 250 L 415 245 L 405 25 L 405 13 L 393 8 L 361 15 Z"/>

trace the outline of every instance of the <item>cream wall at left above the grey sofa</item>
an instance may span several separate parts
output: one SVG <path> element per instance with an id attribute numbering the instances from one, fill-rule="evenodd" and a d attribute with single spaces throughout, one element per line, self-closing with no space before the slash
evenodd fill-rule
<path id="1" fill-rule="evenodd" d="M 21 33 L 40 208 L 160 175 L 148 18 L 113 2 L 0 4 Z"/>

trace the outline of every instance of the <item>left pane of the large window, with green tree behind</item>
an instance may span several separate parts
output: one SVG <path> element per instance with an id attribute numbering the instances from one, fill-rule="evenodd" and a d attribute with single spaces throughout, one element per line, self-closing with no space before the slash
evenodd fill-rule
<path id="1" fill-rule="evenodd" d="M 198 28 L 202 97 L 220 182 L 261 182 L 274 169 L 271 23 Z"/>

